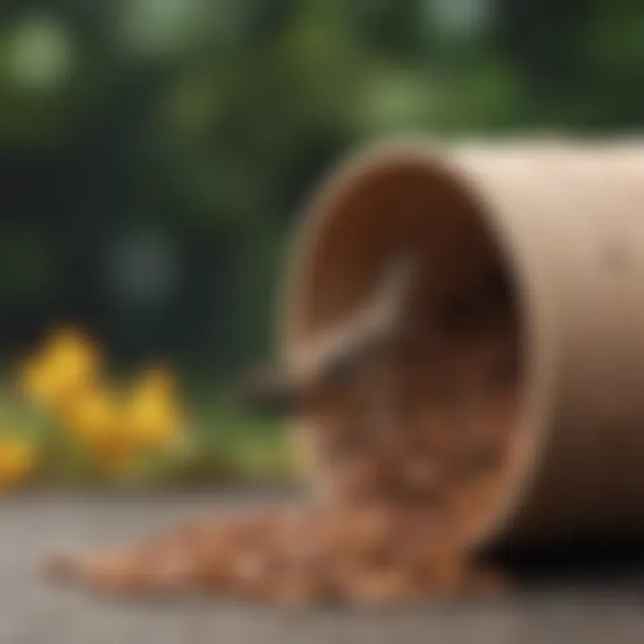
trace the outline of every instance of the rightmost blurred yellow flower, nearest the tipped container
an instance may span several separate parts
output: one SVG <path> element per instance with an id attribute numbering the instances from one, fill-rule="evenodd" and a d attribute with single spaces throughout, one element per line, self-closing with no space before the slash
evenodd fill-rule
<path id="1" fill-rule="evenodd" d="M 174 440 L 181 411 L 174 379 L 166 369 L 148 369 L 141 375 L 126 408 L 126 422 L 140 445 L 166 445 Z"/>

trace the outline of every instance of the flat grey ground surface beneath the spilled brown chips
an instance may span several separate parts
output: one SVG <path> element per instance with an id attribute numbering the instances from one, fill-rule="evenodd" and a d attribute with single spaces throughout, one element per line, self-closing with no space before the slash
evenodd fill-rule
<path id="1" fill-rule="evenodd" d="M 217 603 L 117 604 L 48 586 L 39 557 L 56 547 L 127 542 L 203 513 L 267 503 L 272 495 L 154 498 L 30 497 L 0 503 L 0 644 L 505 644 L 644 642 L 638 575 L 517 592 L 510 597 L 387 610 Z M 549 583 L 549 582 L 548 582 Z"/>

